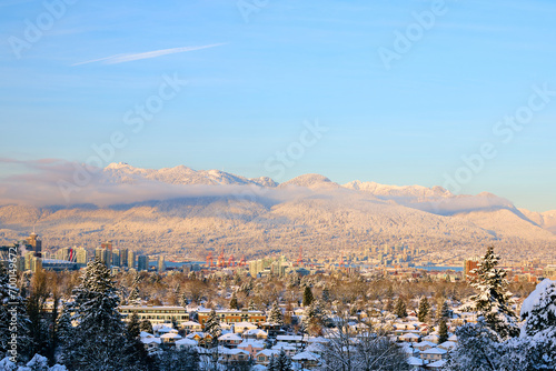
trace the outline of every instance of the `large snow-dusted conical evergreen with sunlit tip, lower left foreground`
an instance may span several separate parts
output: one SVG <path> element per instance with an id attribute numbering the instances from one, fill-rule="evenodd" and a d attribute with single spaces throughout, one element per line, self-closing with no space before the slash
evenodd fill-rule
<path id="1" fill-rule="evenodd" d="M 109 269 L 96 259 L 73 290 L 72 320 L 78 323 L 63 352 L 70 370 L 141 370 L 135 342 L 126 337 L 119 297 Z"/>

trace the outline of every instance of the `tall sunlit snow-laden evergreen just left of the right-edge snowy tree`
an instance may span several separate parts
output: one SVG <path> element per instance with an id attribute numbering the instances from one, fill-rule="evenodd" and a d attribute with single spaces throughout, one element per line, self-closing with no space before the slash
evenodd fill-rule
<path id="1" fill-rule="evenodd" d="M 507 290 L 506 271 L 498 265 L 498 255 L 489 247 L 477 269 L 471 271 L 476 277 L 471 285 L 478 291 L 471 297 L 470 310 L 479 314 L 479 322 L 494 331 L 500 341 L 519 334 L 516 324 L 517 315 L 512 310 Z"/>

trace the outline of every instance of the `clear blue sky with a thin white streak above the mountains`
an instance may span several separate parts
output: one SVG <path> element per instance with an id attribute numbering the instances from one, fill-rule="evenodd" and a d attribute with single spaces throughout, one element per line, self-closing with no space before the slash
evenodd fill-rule
<path id="1" fill-rule="evenodd" d="M 556 90 L 552 1 L 446 1 L 441 14 L 434 1 L 67 1 L 0 4 L 2 158 L 85 162 L 118 131 L 111 162 L 276 178 L 266 163 L 318 120 L 328 131 L 278 181 L 444 186 L 492 143 L 459 192 L 556 209 L 556 96 L 507 143 L 493 132 L 534 87 Z M 379 50 L 419 27 L 387 69 Z M 133 133 L 126 112 L 165 76 L 188 84 Z"/>

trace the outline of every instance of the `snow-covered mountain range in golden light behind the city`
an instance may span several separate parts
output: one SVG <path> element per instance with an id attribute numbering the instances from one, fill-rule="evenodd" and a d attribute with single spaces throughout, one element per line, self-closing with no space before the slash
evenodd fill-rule
<path id="1" fill-rule="evenodd" d="M 555 212 L 518 210 L 490 193 L 455 195 L 440 187 L 359 181 L 340 186 L 318 174 L 277 184 L 183 166 L 152 170 L 112 163 L 79 187 L 72 177 L 59 171 L 3 187 L 0 243 L 34 228 L 47 245 L 95 248 L 110 239 L 145 252 L 198 257 L 221 245 L 250 254 L 383 243 L 413 243 L 429 250 L 431 260 L 475 254 L 488 244 L 514 259 L 556 254 Z"/>

